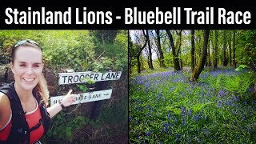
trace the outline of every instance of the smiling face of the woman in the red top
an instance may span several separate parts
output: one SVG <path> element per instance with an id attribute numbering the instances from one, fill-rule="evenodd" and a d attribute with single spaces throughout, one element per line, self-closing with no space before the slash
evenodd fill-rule
<path id="1" fill-rule="evenodd" d="M 33 90 L 42 75 L 42 51 L 30 46 L 17 48 L 11 65 L 15 83 L 23 90 Z"/>

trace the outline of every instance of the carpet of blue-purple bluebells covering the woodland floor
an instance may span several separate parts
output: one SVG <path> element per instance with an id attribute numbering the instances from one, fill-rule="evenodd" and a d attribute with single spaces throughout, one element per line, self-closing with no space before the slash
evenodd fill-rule
<path id="1" fill-rule="evenodd" d="M 178 75 L 180 74 L 180 75 Z M 217 77 L 218 74 L 223 74 L 223 76 L 227 75 L 234 75 L 237 74 L 236 72 L 234 72 L 234 70 L 212 70 L 210 72 L 206 72 L 205 74 L 200 75 L 200 78 L 206 78 L 208 76 L 210 77 Z M 224 75 L 225 74 L 225 75 Z M 217 109 L 219 110 L 219 112 L 221 112 L 222 115 L 222 110 L 224 110 L 224 114 L 226 117 L 226 120 L 228 120 L 228 122 L 231 121 L 237 121 L 236 124 L 230 124 L 230 128 L 233 130 L 244 130 L 247 132 L 251 132 L 255 130 L 256 124 L 255 123 L 250 123 L 248 125 L 246 125 L 245 123 L 247 122 L 252 122 L 252 120 L 254 121 L 255 118 L 252 118 L 252 115 L 254 115 L 256 113 L 256 100 L 251 101 L 249 103 L 249 101 L 246 101 L 245 99 L 243 99 L 242 95 L 238 96 L 237 93 L 233 93 L 232 91 L 228 91 L 228 90 L 218 90 L 219 87 L 210 87 L 208 85 L 207 82 L 189 82 L 187 81 L 188 78 L 185 75 L 182 75 L 182 73 L 170 73 L 170 72 L 166 72 L 166 73 L 161 73 L 161 74 L 149 74 L 147 76 L 140 76 L 140 78 L 138 78 L 138 83 L 141 83 L 140 86 L 142 87 L 143 92 L 143 88 L 146 88 L 146 90 L 150 90 L 148 92 L 155 92 L 155 93 L 149 93 L 148 95 L 151 95 L 151 97 L 148 97 L 148 95 L 145 95 L 145 98 L 142 98 L 141 100 L 134 100 L 133 98 L 130 99 L 130 103 L 134 104 L 134 108 L 136 110 L 141 110 L 142 111 L 142 107 L 138 106 L 143 104 L 143 106 L 146 107 L 146 109 L 143 110 L 148 110 L 148 111 L 143 111 L 143 113 L 140 113 L 142 115 L 142 117 L 146 118 L 149 117 L 150 115 L 152 115 L 152 117 L 148 118 L 150 119 L 150 122 L 152 122 L 152 125 L 150 126 L 154 126 L 156 124 L 155 118 L 154 116 L 158 116 L 158 120 L 161 122 L 161 118 L 160 117 L 165 117 L 163 119 L 162 122 L 162 133 L 166 133 L 166 134 L 172 134 L 172 132 L 175 132 L 176 126 L 180 125 L 182 122 L 182 127 L 186 127 L 185 125 L 187 123 L 190 123 L 190 121 L 194 121 L 195 123 L 198 123 L 198 121 L 200 121 L 201 119 L 205 119 L 206 116 L 204 116 L 204 114 L 196 114 L 195 112 L 193 112 L 191 110 L 191 107 L 194 106 L 195 103 L 206 103 L 206 102 L 214 102 L 215 104 L 217 104 L 217 108 L 212 106 L 210 107 L 210 109 Z M 222 79 L 221 79 L 222 81 Z M 172 82 L 181 82 L 184 83 L 186 85 L 184 86 L 189 86 L 189 87 L 182 87 L 184 88 L 184 90 L 179 91 L 180 90 L 180 85 L 176 85 L 173 84 Z M 136 84 L 138 84 L 136 83 Z M 171 83 L 171 84 L 170 84 Z M 158 84 L 160 84 L 160 86 L 158 86 Z M 178 89 L 178 90 L 175 90 Z M 134 89 L 136 90 L 136 89 Z M 155 91 L 154 91 L 155 90 Z M 168 93 L 168 91 L 170 91 L 170 94 L 172 94 L 173 92 L 176 92 L 176 94 L 174 94 L 174 97 L 172 98 L 167 98 L 166 97 L 166 93 Z M 216 94 L 216 90 L 217 94 Z M 253 86 L 250 86 L 248 91 L 252 92 L 254 90 Z M 145 90 L 144 90 L 145 91 Z M 162 92 L 163 91 L 163 92 Z M 196 93 L 195 93 L 196 91 Z M 178 92 L 178 93 L 177 93 Z M 143 95 L 142 95 L 143 96 Z M 186 98 L 191 98 L 191 97 L 195 97 L 193 100 L 188 99 L 188 101 L 185 103 L 186 106 L 184 106 L 184 103 L 179 103 L 177 102 L 178 98 L 181 98 L 182 100 Z M 141 98 L 141 97 L 140 97 Z M 151 101 L 150 101 L 151 99 Z M 154 101 L 153 101 L 154 100 Z M 157 101 L 157 102 L 155 102 Z M 146 102 L 150 102 L 150 104 L 147 104 Z M 154 102 L 154 104 L 152 104 L 152 102 Z M 165 104 L 166 103 L 166 104 Z M 137 104 L 137 106 L 135 106 Z M 165 107 L 164 106 L 174 106 L 174 105 L 180 105 L 180 114 L 174 114 L 173 112 L 170 111 L 164 111 Z M 182 106 L 183 105 L 183 106 Z M 151 110 L 151 107 L 154 107 L 154 110 Z M 186 110 L 186 107 L 187 110 Z M 144 108 L 144 107 L 143 107 Z M 219 109 L 222 108 L 222 109 Z M 209 110 L 210 109 L 205 109 L 205 112 L 208 114 L 207 118 L 209 118 Z M 134 111 L 137 112 L 138 111 Z M 160 111 L 162 110 L 162 111 Z M 163 112 L 163 113 L 162 113 Z M 166 112 L 166 113 L 165 113 Z M 193 112 L 193 113 L 192 113 Z M 228 114 L 230 112 L 230 114 Z M 217 115 L 217 119 L 215 119 L 215 117 L 210 117 L 210 121 L 212 122 L 212 124 L 210 124 L 207 127 L 204 128 L 199 128 L 198 130 L 191 130 L 192 132 L 195 132 L 196 134 L 190 134 L 186 133 L 186 141 L 187 142 L 194 142 L 194 140 L 196 142 L 207 142 L 207 139 L 205 138 L 210 138 L 210 140 L 213 140 L 214 142 L 216 142 L 216 139 L 218 136 L 214 135 L 214 133 L 212 133 L 211 130 L 218 130 L 217 126 L 219 126 L 219 122 L 222 121 L 222 118 L 218 119 L 219 113 L 215 113 Z M 230 118 L 230 115 L 234 116 L 233 118 Z M 209 117 L 208 117 L 209 116 Z M 143 118 L 140 118 L 141 120 Z M 143 120 L 142 120 L 143 121 Z M 157 122 L 159 122 L 157 121 Z M 177 122 L 178 121 L 178 122 Z M 137 123 L 137 125 L 135 124 L 134 127 L 138 127 L 138 121 L 136 120 L 136 118 L 132 118 L 131 116 L 129 117 L 129 122 L 131 124 Z M 242 122 L 242 123 L 241 123 Z M 142 123 L 142 122 L 141 122 Z M 203 122 L 204 123 L 204 122 Z M 241 125 L 241 128 L 238 128 L 238 125 Z M 232 125 L 232 126 L 231 126 Z M 140 124 L 139 126 L 143 126 L 142 124 Z M 148 125 L 149 126 L 149 125 Z M 210 128 L 210 129 L 208 129 Z M 150 127 L 150 129 L 152 130 L 152 127 Z M 136 128 L 134 129 L 136 130 Z M 148 130 L 144 132 L 145 136 L 150 136 L 152 135 L 152 131 Z M 173 130 L 173 131 L 172 131 Z M 202 136 L 197 137 L 197 134 L 202 134 Z M 239 134 L 242 134 L 241 131 L 239 132 Z M 169 138 L 174 138 L 175 139 L 176 136 L 176 140 L 180 141 L 180 139 L 182 138 L 182 134 L 177 134 L 175 132 L 174 137 L 169 137 Z M 245 139 L 243 138 L 244 136 L 240 136 L 240 139 Z M 185 137 L 184 137 L 185 138 Z M 200 140 L 198 139 L 200 138 Z M 235 137 L 234 137 L 235 138 Z M 172 139 L 172 140 L 174 140 Z M 202 140 L 201 140 L 202 139 Z M 161 141 L 160 141 L 161 140 Z M 159 137 L 159 139 L 156 139 L 155 142 L 163 142 L 163 139 L 161 137 Z M 174 142 L 174 141 L 172 141 Z M 209 142 L 209 141 L 208 141 Z M 240 141 L 241 142 L 241 141 Z"/>

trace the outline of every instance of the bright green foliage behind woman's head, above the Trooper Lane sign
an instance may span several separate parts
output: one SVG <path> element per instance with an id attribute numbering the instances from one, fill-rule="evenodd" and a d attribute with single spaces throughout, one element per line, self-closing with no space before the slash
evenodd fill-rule
<path id="1" fill-rule="evenodd" d="M 30 38 L 43 49 L 44 64 L 58 70 L 127 70 L 127 31 L 94 30 L 109 40 L 97 40 L 89 30 L 2 30 L 1 61 L 9 61 L 10 47 L 18 40 Z M 108 35 L 110 34 L 110 35 Z M 102 54 L 102 55 L 101 55 Z M 107 60 L 99 60 L 106 58 Z M 96 63 L 94 63 L 97 61 Z M 94 66 L 96 65 L 96 66 Z"/>

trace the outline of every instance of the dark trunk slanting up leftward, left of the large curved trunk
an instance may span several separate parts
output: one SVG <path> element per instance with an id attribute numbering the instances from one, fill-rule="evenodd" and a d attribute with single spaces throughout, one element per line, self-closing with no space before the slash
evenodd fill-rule
<path id="1" fill-rule="evenodd" d="M 175 70 L 181 70 L 181 68 L 179 66 L 179 58 L 178 58 L 178 55 L 176 54 L 176 51 L 175 51 L 174 38 L 173 38 L 172 34 L 170 33 L 170 30 L 166 30 L 166 33 L 168 34 L 168 37 L 169 37 L 169 40 L 170 40 L 170 47 L 172 48 L 172 52 L 173 52 L 174 71 Z"/>

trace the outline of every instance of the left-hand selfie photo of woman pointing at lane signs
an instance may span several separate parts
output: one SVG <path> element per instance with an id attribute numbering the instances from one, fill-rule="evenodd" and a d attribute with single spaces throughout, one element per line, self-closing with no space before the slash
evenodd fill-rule
<path id="1" fill-rule="evenodd" d="M 1 30 L 0 143 L 128 143 L 128 30 Z"/>

